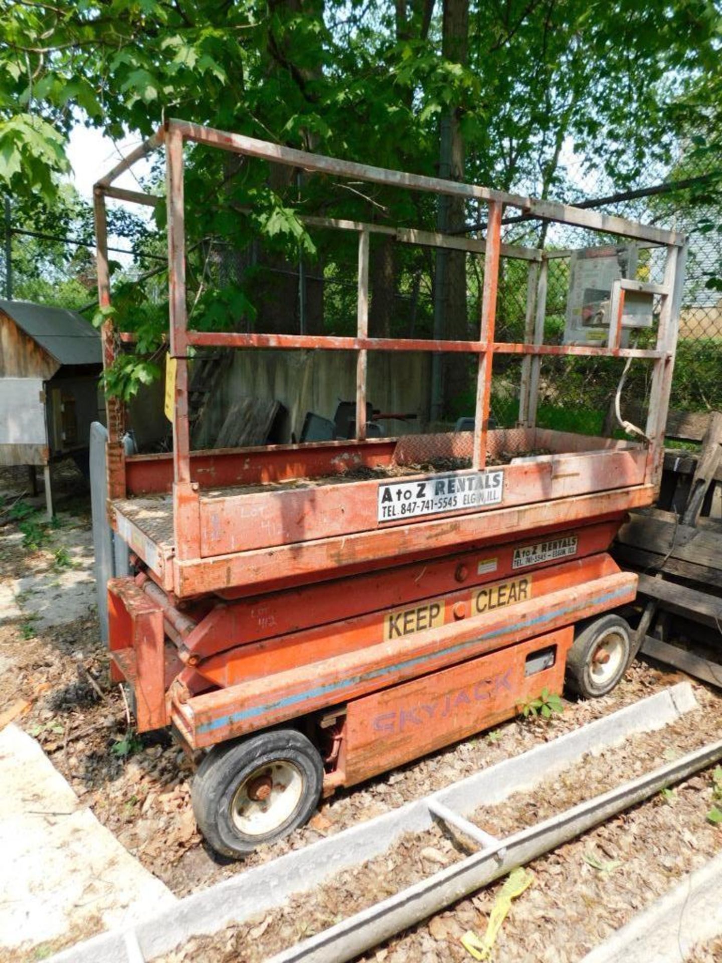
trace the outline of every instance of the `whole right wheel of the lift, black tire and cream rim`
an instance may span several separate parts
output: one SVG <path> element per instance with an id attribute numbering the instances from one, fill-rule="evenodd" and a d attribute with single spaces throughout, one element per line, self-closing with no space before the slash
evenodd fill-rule
<path id="1" fill-rule="evenodd" d="M 567 687 L 584 699 L 610 692 L 632 658 L 632 630 L 621 615 L 606 614 L 589 622 L 567 655 Z"/>

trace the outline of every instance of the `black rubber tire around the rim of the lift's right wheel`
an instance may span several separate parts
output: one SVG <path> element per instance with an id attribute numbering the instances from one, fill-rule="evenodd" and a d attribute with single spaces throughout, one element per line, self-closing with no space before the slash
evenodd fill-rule
<path id="1" fill-rule="evenodd" d="M 592 674 L 593 656 L 606 639 L 614 639 L 621 644 L 621 657 L 608 678 L 595 679 Z M 567 688 L 583 699 L 597 699 L 617 686 L 631 661 L 632 629 L 621 615 L 608 612 L 580 626 L 567 655 Z"/>

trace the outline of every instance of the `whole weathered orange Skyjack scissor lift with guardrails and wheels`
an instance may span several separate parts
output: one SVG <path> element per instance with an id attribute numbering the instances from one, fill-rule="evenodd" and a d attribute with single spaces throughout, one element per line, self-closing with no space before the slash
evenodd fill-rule
<path id="1" fill-rule="evenodd" d="M 187 142 L 476 200 L 488 210 L 486 236 L 309 218 L 358 235 L 355 337 L 194 331 L 185 282 Z M 170 726 L 189 750 L 207 750 L 193 783 L 196 819 L 211 846 L 241 855 L 307 820 L 321 794 L 513 716 L 542 690 L 560 692 L 565 674 L 584 696 L 619 681 L 632 658 L 632 632 L 613 610 L 633 602 L 636 576 L 606 550 L 625 513 L 655 498 L 685 246 L 681 234 L 589 210 L 170 120 L 95 185 L 101 306 L 110 305 L 105 198 L 158 202 L 114 186 L 158 147 L 167 162 L 169 354 L 177 365 L 173 452 L 126 455 L 124 409 L 108 399 L 109 513 L 136 573 L 108 586 L 112 671 L 132 691 L 141 732 Z M 549 259 L 564 252 L 504 245 L 505 208 L 587 236 L 596 231 L 661 248 L 663 277 L 658 284 L 615 282 L 606 346 L 544 344 Z M 478 340 L 369 337 L 375 231 L 483 255 Z M 529 264 L 533 304 L 524 343 L 495 341 L 503 257 Z M 653 347 L 622 347 L 630 291 L 658 299 Z M 104 325 L 106 365 L 128 340 L 112 322 Z M 192 451 L 192 346 L 356 351 L 355 440 Z M 369 351 L 476 355 L 477 428 L 368 438 Z M 500 354 L 523 356 L 515 429 L 489 429 Z M 539 365 L 559 354 L 652 366 L 639 440 L 535 427 Z M 540 450 L 552 454 L 528 455 Z M 511 453 L 508 463 L 497 463 L 501 453 Z M 404 468 L 439 458 L 466 458 L 469 467 L 430 474 Z M 349 468 L 373 469 L 377 477 L 354 480 Z"/>

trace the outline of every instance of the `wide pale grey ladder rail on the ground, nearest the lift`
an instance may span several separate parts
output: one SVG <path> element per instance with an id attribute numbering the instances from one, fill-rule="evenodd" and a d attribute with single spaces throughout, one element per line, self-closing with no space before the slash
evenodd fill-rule
<path id="1" fill-rule="evenodd" d="M 429 800 L 469 816 L 482 804 L 498 803 L 511 794 L 528 790 L 587 753 L 602 752 L 634 733 L 662 728 L 696 708 L 692 687 L 688 682 L 680 683 L 483 769 L 438 793 L 222 880 L 136 924 L 134 932 L 142 957 L 152 959 L 191 936 L 215 933 L 229 924 L 268 912 L 292 895 L 320 886 L 335 873 L 373 859 L 403 833 L 424 832 L 433 824 Z M 51 963 L 128 963 L 126 934 L 127 930 L 103 933 L 58 953 Z"/>

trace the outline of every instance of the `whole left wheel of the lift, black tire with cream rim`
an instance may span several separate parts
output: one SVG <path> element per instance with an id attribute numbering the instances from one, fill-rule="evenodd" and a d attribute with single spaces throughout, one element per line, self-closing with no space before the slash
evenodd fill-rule
<path id="1" fill-rule="evenodd" d="M 193 813 L 209 846 L 245 856 L 308 820 L 321 795 L 318 751 L 296 729 L 215 746 L 193 780 Z"/>

